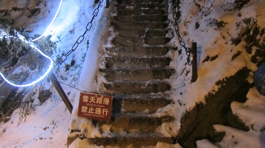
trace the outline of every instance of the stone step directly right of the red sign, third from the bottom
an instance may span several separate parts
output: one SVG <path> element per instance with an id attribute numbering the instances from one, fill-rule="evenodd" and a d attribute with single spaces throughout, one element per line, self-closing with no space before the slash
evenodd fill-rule
<path id="1" fill-rule="evenodd" d="M 168 95 L 137 94 L 113 96 L 113 112 L 149 112 L 153 113 L 171 103 Z"/>

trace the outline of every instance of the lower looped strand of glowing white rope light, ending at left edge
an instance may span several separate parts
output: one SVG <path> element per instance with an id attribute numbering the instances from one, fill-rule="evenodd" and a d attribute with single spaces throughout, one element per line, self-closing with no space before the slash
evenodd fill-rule
<path id="1" fill-rule="evenodd" d="M 7 82 L 7 83 L 9 83 L 10 85 L 13 85 L 13 86 L 17 86 L 17 87 L 26 87 L 26 86 L 31 86 L 31 85 L 33 85 L 33 84 L 35 84 L 35 83 L 37 83 L 37 82 L 39 82 L 39 81 L 41 81 L 50 71 L 51 71 L 51 69 L 52 69 L 52 66 L 53 66 L 53 61 L 52 61 L 52 59 L 50 58 L 50 57 L 48 57 L 48 56 L 46 56 L 44 53 L 42 53 L 32 42 L 29 42 L 29 41 L 27 41 L 26 39 L 25 39 L 25 37 L 23 37 L 23 36 L 21 36 L 20 34 L 18 34 L 18 36 L 19 36 L 19 38 L 21 39 L 21 40 L 23 40 L 25 43 L 28 43 L 29 44 L 29 46 L 30 47 L 32 47 L 32 48 L 34 48 L 35 50 L 37 50 L 39 53 L 41 53 L 41 55 L 43 55 L 44 57 L 46 57 L 46 58 L 48 58 L 50 61 L 51 61 L 51 64 L 50 64 L 50 67 L 48 68 L 48 70 L 39 78 L 39 79 L 37 79 L 36 81 L 33 81 L 33 82 L 31 82 L 31 83 L 29 83 L 29 84 L 25 84 L 25 85 L 16 85 L 16 84 L 14 84 L 14 83 L 12 83 L 12 82 L 10 82 L 10 81 L 8 81 L 7 79 L 6 79 L 6 77 L 2 74 L 2 72 L 0 71 L 0 75 L 3 77 L 3 79 Z M 12 37 L 12 36 L 8 36 L 8 37 Z"/>

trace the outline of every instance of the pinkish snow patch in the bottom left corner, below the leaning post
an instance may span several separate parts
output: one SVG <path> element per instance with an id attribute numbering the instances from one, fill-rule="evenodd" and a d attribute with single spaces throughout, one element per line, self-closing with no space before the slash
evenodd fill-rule
<path id="1" fill-rule="evenodd" d="M 1 126 L 1 131 L 5 129 L 1 135 L 2 147 L 63 147 L 66 144 L 69 118 L 54 116 L 54 112 L 61 112 L 63 108 L 65 106 L 60 100 L 47 102 L 45 106 L 39 106 L 38 111 L 28 116 L 25 122 L 24 119 L 18 121 L 20 117 L 15 111 L 17 114 L 11 116 L 9 124 Z"/>

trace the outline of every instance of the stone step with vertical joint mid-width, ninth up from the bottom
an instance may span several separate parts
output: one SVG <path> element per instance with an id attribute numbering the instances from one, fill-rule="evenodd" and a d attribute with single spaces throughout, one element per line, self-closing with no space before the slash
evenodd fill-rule
<path id="1" fill-rule="evenodd" d="M 119 37 L 124 38 L 140 38 L 140 37 L 164 37 L 167 29 L 148 29 L 148 30 L 116 30 Z"/>

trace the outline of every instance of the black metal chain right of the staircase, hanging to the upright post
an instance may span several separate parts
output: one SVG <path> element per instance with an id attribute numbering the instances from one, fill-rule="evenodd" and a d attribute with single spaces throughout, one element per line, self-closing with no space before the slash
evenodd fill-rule
<path id="1" fill-rule="evenodd" d="M 179 6 L 177 6 L 178 4 L 176 3 L 176 1 L 179 1 L 179 0 L 172 0 L 172 3 L 173 3 L 173 18 L 175 20 L 174 28 L 175 28 L 176 34 L 178 36 L 178 39 L 179 39 L 179 44 L 180 44 L 181 47 L 183 47 L 185 49 L 186 55 L 188 56 L 187 57 L 188 65 L 191 65 L 190 56 L 191 56 L 192 50 L 191 50 L 191 48 L 186 47 L 186 44 L 182 40 L 182 38 L 180 36 L 180 33 L 179 33 L 178 19 L 179 19 L 180 13 L 177 11 L 177 9 L 179 9 Z"/>

